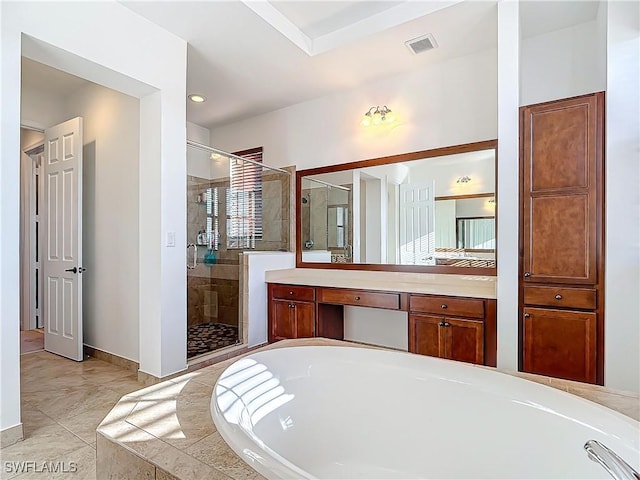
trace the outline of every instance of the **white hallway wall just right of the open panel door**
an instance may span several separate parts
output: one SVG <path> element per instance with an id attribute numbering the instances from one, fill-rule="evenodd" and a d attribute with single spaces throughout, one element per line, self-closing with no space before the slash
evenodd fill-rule
<path id="1" fill-rule="evenodd" d="M 84 118 L 84 343 L 137 362 L 140 102 L 91 84 L 66 111 Z"/>

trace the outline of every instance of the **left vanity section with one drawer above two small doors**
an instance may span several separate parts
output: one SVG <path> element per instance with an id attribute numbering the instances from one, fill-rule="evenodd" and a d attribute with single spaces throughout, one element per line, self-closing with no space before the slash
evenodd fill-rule
<path id="1" fill-rule="evenodd" d="M 315 289 L 299 285 L 268 285 L 269 343 L 316 335 Z"/>

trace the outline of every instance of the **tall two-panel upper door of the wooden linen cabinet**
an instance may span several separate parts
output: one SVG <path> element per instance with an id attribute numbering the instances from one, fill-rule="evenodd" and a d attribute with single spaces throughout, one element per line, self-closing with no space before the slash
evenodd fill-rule
<path id="1" fill-rule="evenodd" d="M 526 282 L 596 283 L 603 95 L 521 110 Z"/>

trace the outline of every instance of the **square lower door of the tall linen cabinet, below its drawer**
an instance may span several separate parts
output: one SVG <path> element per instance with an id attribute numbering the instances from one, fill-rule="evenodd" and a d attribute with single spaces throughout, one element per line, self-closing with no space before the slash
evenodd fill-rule
<path id="1" fill-rule="evenodd" d="M 523 370 L 580 382 L 596 381 L 596 314 L 524 309 Z"/>

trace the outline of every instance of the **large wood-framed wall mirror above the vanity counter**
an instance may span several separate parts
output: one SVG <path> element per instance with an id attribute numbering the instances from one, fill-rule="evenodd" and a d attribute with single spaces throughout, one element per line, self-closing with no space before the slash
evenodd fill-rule
<path id="1" fill-rule="evenodd" d="M 298 171 L 297 266 L 495 275 L 496 148 Z"/>

